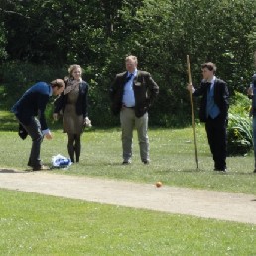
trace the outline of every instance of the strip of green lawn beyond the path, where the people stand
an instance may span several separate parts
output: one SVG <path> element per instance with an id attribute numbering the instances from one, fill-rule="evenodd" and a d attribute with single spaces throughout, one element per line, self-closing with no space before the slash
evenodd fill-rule
<path id="1" fill-rule="evenodd" d="M 54 155 L 67 155 L 66 134 L 53 131 L 54 139 L 42 144 L 42 159 L 51 165 Z M 199 169 L 196 169 L 192 128 L 150 129 L 151 164 L 140 161 L 137 134 L 134 132 L 134 157 L 129 166 L 122 166 L 121 132 L 116 129 L 95 129 L 82 136 L 79 164 L 67 170 L 53 170 L 66 175 L 85 175 L 140 183 L 162 181 L 164 185 L 190 187 L 223 192 L 256 194 L 253 154 L 228 157 L 228 174 L 213 171 L 213 160 L 203 127 L 196 128 Z M 1 166 L 27 170 L 31 139 L 21 140 L 17 132 L 0 131 Z"/>

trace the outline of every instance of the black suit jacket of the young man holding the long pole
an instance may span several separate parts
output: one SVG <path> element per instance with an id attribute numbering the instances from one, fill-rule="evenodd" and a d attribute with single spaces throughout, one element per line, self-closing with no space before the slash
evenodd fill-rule
<path id="1" fill-rule="evenodd" d="M 205 122 L 207 120 L 206 116 L 206 108 L 207 108 L 207 93 L 209 84 L 205 82 L 201 82 L 200 87 L 195 90 L 193 96 L 202 96 L 200 101 L 200 110 L 199 110 L 199 118 L 201 122 Z M 218 106 L 220 110 L 220 116 L 223 120 L 228 119 L 228 88 L 227 84 L 220 79 L 216 79 L 214 82 L 214 102 Z"/>

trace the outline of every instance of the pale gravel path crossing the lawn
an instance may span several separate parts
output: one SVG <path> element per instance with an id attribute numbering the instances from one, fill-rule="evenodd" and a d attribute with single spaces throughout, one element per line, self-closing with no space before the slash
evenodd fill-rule
<path id="1" fill-rule="evenodd" d="M 0 169 L 0 188 L 256 224 L 256 195 Z"/>

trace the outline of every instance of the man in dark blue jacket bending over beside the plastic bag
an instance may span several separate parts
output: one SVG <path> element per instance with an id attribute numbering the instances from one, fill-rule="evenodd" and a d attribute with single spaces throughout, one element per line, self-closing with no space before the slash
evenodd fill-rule
<path id="1" fill-rule="evenodd" d="M 52 134 L 47 126 L 45 109 L 50 96 L 61 94 L 64 88 L 65 84 L 61 79 L 52 81 L 50 85 L 46 82 L 38 82 L 29 88 L 12 107 L 11 111 L 32 139 L 28 166 L 32 167 L 33 171 L 46 169 L 41 163 L 40 148 L 44 136 L 52 139 Z"/>

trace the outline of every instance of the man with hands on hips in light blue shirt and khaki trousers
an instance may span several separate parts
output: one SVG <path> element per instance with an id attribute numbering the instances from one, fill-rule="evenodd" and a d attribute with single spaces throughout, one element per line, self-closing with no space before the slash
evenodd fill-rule
<path id="1" fill-rule="evenodd" d="M 120 113 L 122 128 L 123 164 L 132 158 L 133 128 L 137 129 L 140 157 L 149 164 L 148 109 L 159 93 L 159 87 L 150 73 L 137 69 L 137 57 L 125 59 L 126 72 L 119 73 L 110 88 L 112 112 Z"/>

